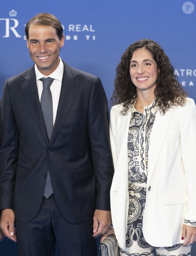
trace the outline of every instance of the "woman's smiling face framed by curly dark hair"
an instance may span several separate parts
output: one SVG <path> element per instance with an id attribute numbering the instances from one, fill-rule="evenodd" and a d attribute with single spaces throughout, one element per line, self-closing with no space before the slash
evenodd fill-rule
<path id="1" fill-rule="evenodd" d="M 144 91 L 154 93 L 158 75 L 157 65 L 151 53 L 145 48 L 133 51 L 130 60 L 130 77 L 136 86 L 137 93 Z"/>

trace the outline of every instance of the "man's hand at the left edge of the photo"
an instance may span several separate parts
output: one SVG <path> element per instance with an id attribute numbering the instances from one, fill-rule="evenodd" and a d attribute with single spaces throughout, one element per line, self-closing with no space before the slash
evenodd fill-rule
<path id="1" fill-rule="evenodd" d="M 1 213 L 1 220 L 0 220 L 0 228 L 2 229 L 4 235 L 13 240 L 16 240 L 16 232 L 14 229 L 14 221 L 15 221 L 15 214 L 12 209 L 4 209 Z"/>

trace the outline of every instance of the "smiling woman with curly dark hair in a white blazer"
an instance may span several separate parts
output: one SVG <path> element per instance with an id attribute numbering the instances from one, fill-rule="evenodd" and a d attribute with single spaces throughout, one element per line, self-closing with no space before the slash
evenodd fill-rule
<path id="1" fill-rule="evenodd" d="M 111 212 L 120 255 L 190 255 L 196 107 L 160 45 L 142 39 L 126 49 L 112 101 Z"/>

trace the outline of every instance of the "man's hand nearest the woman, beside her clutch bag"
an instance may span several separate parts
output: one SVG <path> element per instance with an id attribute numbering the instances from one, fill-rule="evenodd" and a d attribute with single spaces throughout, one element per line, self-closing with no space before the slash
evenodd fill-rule
<path id="1" fill-rule="evenodd" d="M 111 223 L 111 211 L 95 210 L 93 217 L 93 237 L 98 237 L 108 232 Z"/>

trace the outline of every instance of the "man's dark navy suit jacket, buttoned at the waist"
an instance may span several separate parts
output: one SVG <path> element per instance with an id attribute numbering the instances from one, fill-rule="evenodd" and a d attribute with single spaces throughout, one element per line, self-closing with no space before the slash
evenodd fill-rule
<path id="1" fill-rule="evenodd" d="M 50 171 L 54 197 L 70 223 L 110 210 L 113 162 L 107 99 L 101 81 L 64 62 L 50 142 L 38 97 L 34 66 L 6 80 L 1 109 L 0 209 L 18 221 L 38 213 Z"/>

